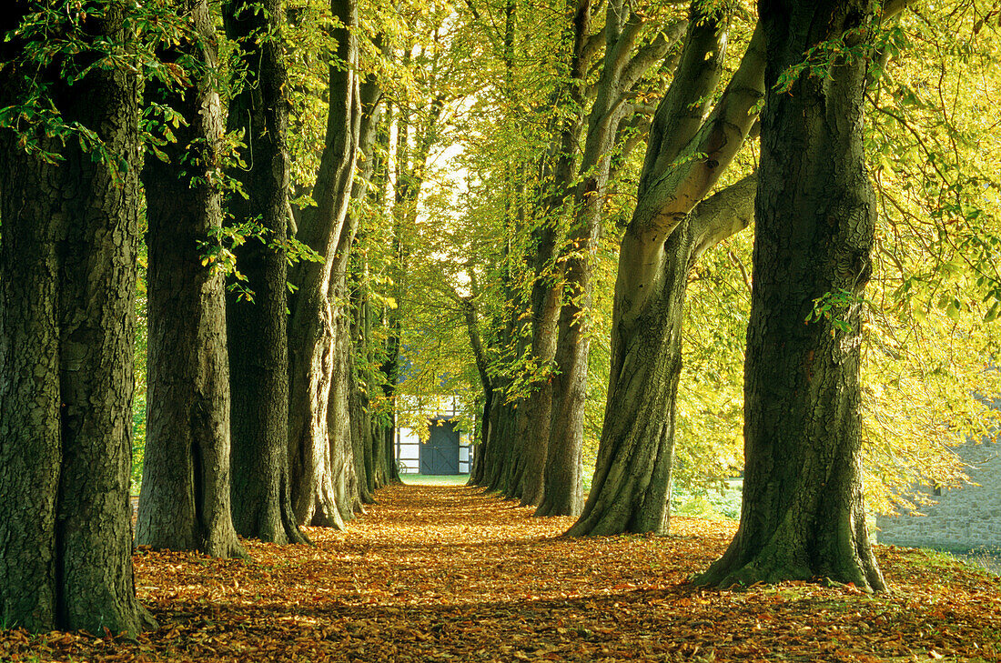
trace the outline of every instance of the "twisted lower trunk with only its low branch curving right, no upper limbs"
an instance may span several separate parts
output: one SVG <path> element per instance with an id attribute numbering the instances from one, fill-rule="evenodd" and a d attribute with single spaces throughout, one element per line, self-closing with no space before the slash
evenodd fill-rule
<path id="1" fill-rule="evenodd" d="M 699 256 L 750 224 L 753 177 L 707 199 L 664 246 L 657 292 L 633 316 L 617 316 L 605 425 L 591 494 L 568 534 L 667 534 L 675 453 L 675 407 L 682 372 L 682 324 L 688 276 Z M 724 221 L 730 225 L 725 226 Z M 726 227 L 719 235 L 704 228 Z M 627 238 L 623 251 L 632 247 Z M 620 264 L 624 269 L 628 264 Z M 620 275 L 620 283 L 630 277 Z M 617 287 L 617 292 L 622 290 Z M 620 302 L 616 310 L 621 311 Z"/>

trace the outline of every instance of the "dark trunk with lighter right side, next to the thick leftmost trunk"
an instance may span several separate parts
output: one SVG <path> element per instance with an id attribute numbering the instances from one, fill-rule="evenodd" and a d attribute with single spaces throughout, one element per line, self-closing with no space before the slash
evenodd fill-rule
<path id="1" fill-rule="evenodd" d="M 142 173 L 149 223 L 148 414 L 136 542 L 156 549 L 244 556 L 229 506 L 229 365 L 222 272 L 202 266 L 209 233 L 219 227 L 213 184 L 222 137 L 214 85 L 215 28 L 206 0 L 180 0 L 197 43 L 166 53 L 192 58 L 194 84 L 171 91 L 151 83 L 147 98 L 186 123 L 146 153 Z M 188 156 L 190 158 L 185 158 Z"/>

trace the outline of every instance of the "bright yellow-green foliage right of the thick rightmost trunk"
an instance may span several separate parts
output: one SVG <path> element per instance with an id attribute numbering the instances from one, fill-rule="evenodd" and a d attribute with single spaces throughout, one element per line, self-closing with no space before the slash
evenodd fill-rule
<path id="1" fill-rule="evenodd" d="M 873 506 L 965 478 L 950 447 L 993 436 L 1001 142 L 997 28 L 977 3 L 922 8 L 887 34 L 866 148 L 881 209 L 867 298 L 866 478 Z"/>

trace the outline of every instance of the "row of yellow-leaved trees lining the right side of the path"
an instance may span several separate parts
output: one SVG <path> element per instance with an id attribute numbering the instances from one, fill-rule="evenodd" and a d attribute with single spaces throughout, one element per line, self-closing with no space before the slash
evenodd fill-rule
<path id="1" fill-rule="evenodd" d="M 706 421 L 706 415 L 720 416 L 712 410 L 689 410 L 688 421 L 676 418 L 680 400 L 700 398 L 680 389 L 685 355 L 700 354 L 693 352 L 691 337 L 704 333 L 685 330 L 686 308 L 690 318 L 693 309 L 715 308 L 717 319 L 707 326 L 716 334 L 707 344 L 717 347 L 702 352 L 729 366 L 719 381 L 698 374 L 690 379 L 699 383 L 693 391 L 733 394 L 731 385 L 742 373 L 733 367 L 743 363 L 745 347 L 725 335 L 743 335 L 748 324 L 747 465 L 741 535 L 703 580 L 823 574 L 882 586 L 865 531 L 863 475 L 875 484 L 884 507 L 891 500 L 906 504 L 915 479 L 955 482 L 961 471 L 948 445 L 989 430 L 992 415 L 977 395 L 997 388 L 989 359 L 996 333 L 988 328 L 997 272 L 982 260 L 984 241 L 994 233 L 986 200 L 979 192 L 964 198 L 960 206 L 969 206 L 970 213 L 962 216 L 941 200 L 943 192 L 963 189 L 958 202 L 972 193 L 971 181 L 981 182 L 983 190 L 995 186 L 989 174 L 961 163 L 965 150 L 973 154 L 979 146 L 959 137 L 970 136 L 959 125 L 975 120 L 977 111 L 970 104 L 974 117 L 960 120 L 957 108 L 963 102 L 949 91 L 961 85 L 968 58 L 982 65 L 995 60 L 983 42 L 961 47 L 937 27 L 929 30 L 936 21 L 951 22 L 954 30 L 976 36 L 991 29 L 992 14 L 964 3 L 932 18 L 921 9 L 904 13 L 906 4 L 883 3 L 872 11 L 862 5 L 781 7 L 776 16 L 794 18 L 772 24 L 765 6 L 756 15 L 740 6 L 696 3 L 690 10 L 661 7 L 666 13 L 658 15 L 649 7 L 614 2 L 566 5 L 557 40 L 562 48 L 553 49 L 556 58 L 543 60 L 557 72 L 547 94 L 492 101 L 494 112 L 514 116 L 500 140 L 517 140 L 527 149 L 491 143 L 489 135 L 496 132 L 491 126 L 481 140 L 495 150 L 494 158 L 486 167 L 468 160 L 476 169 L 469 178 L 476 202 L 504 220 L 494 231 L 504 238 L 495 243 L 499 250 L 467 270 L 472 289 L 464 301 L 473 311 L 465 317 L 470 337 L 476 337 L 471 347 L 478 365 L 493 368 L 480 371 L 488 396 L 472 483 L 536 505 L 539 515 L 579 516 L 570 534 L 665 533 L 676 431 L 687 428 L 692 437 L 704 437 L 714 426 L 727 428 Z M 515 21 L 517 11 L 526 10 L 508 3 L 503 14 L 498 10 L 484 19 L 505 26 L 496 49 L 508 68 L 519 62 L 519 27 L 540 32 L 531 18 Z M 811 25 L 828 31 L 810 33 Z M 912 35 L 924 43 L 908 43 Z M 604 58 L 595 53 L 600 51 L 595 43 L 603 41 Z M 918 53 L 912 56 L 905 46 Z M 526 42 L 523 48 L 528 60 L 531 46 Z M 661 48 L 655 62 L 663 69 L 645 78 L 641 72 L 650 64 L 645 56 Z M 957 58 L 959 50 L 964 55 Z M 929 95 L 932 71 L 909 57 L 934 59 L 938 99 Z M 629 84 L 623 85 L 624 71 L 639 77 L 627 75 Z M 914 88 L 902 79 L 922 78 L 916 101 Z M 525 88 L 520 91 L 529 96 Z M 795 109 L 777 110 L 790 95 Z M 877 100 L 881 96 L 903 108 L 888 108 Z M 920 120 L 912 114 L 914 106 L 921 107 Z M 770 112 L 779 118 L 771 120 L 771 138 Z M 864 114 L 894 122 L 877 121 L 878 131 L 867 129 Z M 527 123 L 527 115 L 535 121 Z M 544 124 L 540 140 L 534 127 Z M 760 158 L 754 151 L 759 132 Z M 642 163 L 630 159 L 637 135 L 647 138 Z M 896 171 L 906 195 L 921 201 L 927 214 L 922 222 L 931 221 L 942 244 L 933 248 L 911 234 L 922 212 L 898 204 L 898 192 L 885 184 L 880 194 L 890 197 L 880 199 L 884 226 L 882 238 L 877 235 L 866 144 L 886 150 L 870 155 L 868 163 L 878 164 L 883 182 Z M 906 151 L 903 145 L 918 146 L 920 165 L 914 155 L 894 158 Z M 950 165 L 934 165 L 943 162 Z M 768 173 L 771 183 L 762 179 Z M 923 192 L 906 182 L 909 176 L 921 181 Z M 633 200 L 624 200 L 633 192 Z M 971 224 L 974 217 L 978 221 Z M 753 219 L 754 264 L 748 270 L 746 240 L 727 240 Z M 609 236 L 603 238 L 603 231 Z M 895 245 L 887 243 L 887 235 Z M 951 236 L 955 239 L 946 239 Z M 724 242 L 725 259 L 714 260 L 714 251 L 720 254 L 714 247 Z M 600 270 L 602 249 L 610 245 L 611 250 L 618 245 L 618 275 L 614 285 L 605 282 L 615 299 L 611 319 L 603 319 L 607 309 L 603 313 L 592 301 L 594 278 L 600 276 L 594 270 Z M 879 304 L 864 294 L 874 272 L 874 247 L 884 259 L 877 272 Z M 466 250 L 482 256 L 473 245 Z M 737 320 L 721 330 L 720 318 L 734 304 L 721 302 L 720 294 L 699 283 L 706 278 L 700 274 L 704 256 L 715 262 L 710 269 L 719 271 L 721 262 L 736 267 L 727 285 L 733 288 L 736 278 L 745 286 L 741 297 L 750 301 L 740 305 L 750 309 L 749 323 L 734 316 Z M 499 269 L 492 270 L 490 262 Z M 477 268 L 482 274 L 474 273 Z M 489 280 L 497 283 L 490 292 L 476 286 Z M 713 285 L 722 285 L 720 280 Z M 921 294 L 911 297 L 919 283 Z M 690 287 L 712 303 L 686 307 Z M 492 324 L 478 323 L 477 314 Z M 929 316 L 935 322 L 924 324 Z M 863 320 L 875 329 L 867 331 Z M 495 333 L 483 334 L 484 326 Z M 604 417 L 597 417 L 594 431 L 593 483 L 582 508 L 580 437 L 587 430 L 582 424 L 589 342 L 605 334 L 611 339 L 611 370 L 601 399 Z M 932 353 L 925 350 L 931 348 L 907 348 L 908 336 L 943 339 L 931 360 L 935 369 L 928 370 Z M 863 353 L 864 348 L 870 351 Z M 970 355 L 956 361 L 957 351 Z M 864 362 L 872 385 L 865 398 L 859 384 Z M 720 384 L 726 381 L 729 385 Z M 731 412 L 738 399 L 727 399 Z M 951 415 L 942 412 L 942 401 Z M 697 418 L 702 421 L 693 423 Z M 865 465 L 864 429 L 870 442 Z M 706 447 L 712 454 L 721 445 L 691 437 L 685 442 L 685 479 L 691 481 L 693 465 L 695 473 L 711 472 L 698 463 L 708 455 Z"/>

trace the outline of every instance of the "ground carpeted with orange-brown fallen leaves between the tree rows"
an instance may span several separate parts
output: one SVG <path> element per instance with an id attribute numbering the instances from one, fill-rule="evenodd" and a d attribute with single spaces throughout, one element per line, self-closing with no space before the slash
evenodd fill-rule
<path id="1" fill-rule="evenodd" d="M 464 486 L 394 486 L 314 546 L 247 542 L 250 561 L 140 549 L 160 627 L 0 631 L 0 661 L 997 661 L 1001 580 L 880 546 L 892 589 L 686 584 L 733 523 L 669 537 L 559 538 L 568 518 Z"/>

